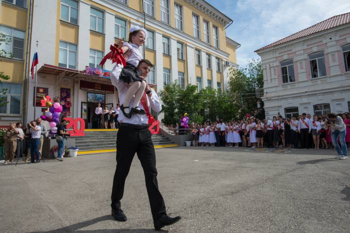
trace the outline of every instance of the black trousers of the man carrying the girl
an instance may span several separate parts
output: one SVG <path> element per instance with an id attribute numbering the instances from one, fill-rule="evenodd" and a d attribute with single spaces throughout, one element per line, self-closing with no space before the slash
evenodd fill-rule
<path id="1" fill-rule="evenodd" d="M 133 156 L 137 157 L 143 168 L 148 200 L 153 220 L 166 214 L 163 197 L 158 190 L 155 152 L 148 127 L 135 129 L 120 125 L 116 137 L 116 169 L 113 179 L 111 208 L 120 208 L 124 185 Z"/>

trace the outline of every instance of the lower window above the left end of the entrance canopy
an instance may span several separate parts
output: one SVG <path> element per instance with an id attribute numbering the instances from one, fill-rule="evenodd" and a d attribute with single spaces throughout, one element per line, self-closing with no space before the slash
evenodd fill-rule
<path id="1" fill-rule="evenodd" d="M 75 69 L 76 45 L 59 41 L 58 66 Z"/>

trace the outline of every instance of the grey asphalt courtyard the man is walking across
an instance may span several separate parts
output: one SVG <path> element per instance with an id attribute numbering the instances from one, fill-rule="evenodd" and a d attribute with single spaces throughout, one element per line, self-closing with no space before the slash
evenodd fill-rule
<path id="1" fill-rule="evenodd" d="M 349 232 L 350 159 L 334 150 L 157 149 L 159 189 L 182 220 L 164 232 Z M 153 232 L 134 158 L 110 216 L 115 154 L 0 165 L 0 232 Z"/>

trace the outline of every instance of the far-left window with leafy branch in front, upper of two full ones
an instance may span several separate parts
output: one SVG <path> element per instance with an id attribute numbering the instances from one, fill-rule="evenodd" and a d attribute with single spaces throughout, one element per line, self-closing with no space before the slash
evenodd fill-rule
<path id="1" fill-rule="evenodd" d="M 6 57 L 17 59 L 24 58 L 24 31 L 0 26 L 0 32 L 3 33 L 4 38 L 10 40 L 8 44 L 2 42 L 0 50 L 3 50 Z"/>

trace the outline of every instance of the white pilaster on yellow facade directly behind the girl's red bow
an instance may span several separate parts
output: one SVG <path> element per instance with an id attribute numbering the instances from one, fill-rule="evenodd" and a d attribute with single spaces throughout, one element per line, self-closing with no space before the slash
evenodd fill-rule
<path id="1" fill-rule="evenodd" d="M 107 54 L 109 46 L 114 44 L 114 14 L 109 11 L 104 11 L 104 53 Z M 110 60 L 104 64 L 104 69 L 112 70 L 113 65 Z"/>

